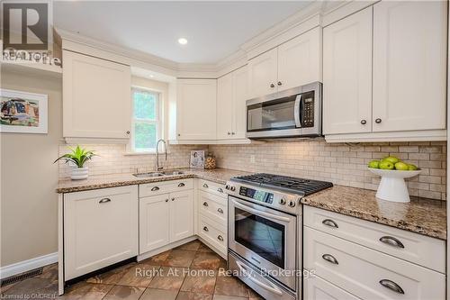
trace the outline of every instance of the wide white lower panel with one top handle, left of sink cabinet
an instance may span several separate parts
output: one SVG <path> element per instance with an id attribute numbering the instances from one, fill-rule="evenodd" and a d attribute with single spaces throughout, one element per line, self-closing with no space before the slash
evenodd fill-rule
<path id="1" fill-rule="evenodd" d="M 138 255 L 138 186 L 64 195 L 64 279 Z"/>

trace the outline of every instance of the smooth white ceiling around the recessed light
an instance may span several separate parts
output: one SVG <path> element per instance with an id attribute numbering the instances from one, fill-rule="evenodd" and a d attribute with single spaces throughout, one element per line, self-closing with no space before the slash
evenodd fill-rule
<path id="1" fill-rule="evenodd" d="M 54 25 L 178 63 L 216 63 L 311 1 L 54 2 Z M 184 37 L 187 45 L 177 40 Z"/>

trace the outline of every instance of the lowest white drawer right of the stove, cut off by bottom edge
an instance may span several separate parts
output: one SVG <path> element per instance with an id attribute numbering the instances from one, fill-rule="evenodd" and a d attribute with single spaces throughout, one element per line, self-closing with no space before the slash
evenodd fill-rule
<path id="1" fill-rule="evenodd" d="M 304 298 L 307 300 L 360 300 L 327 280 L 313 276 L 303 279 Z"/>

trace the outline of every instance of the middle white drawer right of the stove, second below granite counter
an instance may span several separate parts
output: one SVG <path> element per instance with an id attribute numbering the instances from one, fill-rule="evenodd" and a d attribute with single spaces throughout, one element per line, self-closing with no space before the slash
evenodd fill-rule
<path id="1" fill-rule="evenodd" d="M 304 268 L 314 269 L 317 276 L 353 295 L 362 299 L 410 300 L 446 296 L 444 274 L 309 227 L 304 227 L 303 232 Z M 399 287 L 404 294 L 393 290 Z"/>

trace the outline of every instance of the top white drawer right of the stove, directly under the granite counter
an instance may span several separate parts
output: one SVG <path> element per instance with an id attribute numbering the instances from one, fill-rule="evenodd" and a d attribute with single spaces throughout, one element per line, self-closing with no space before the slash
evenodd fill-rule
<path id="1" fill-rule="evenodd" d="M 445 241 L 310 206 L 304 206 L 303 223 L 399 259 L 446 272 Z"/>

